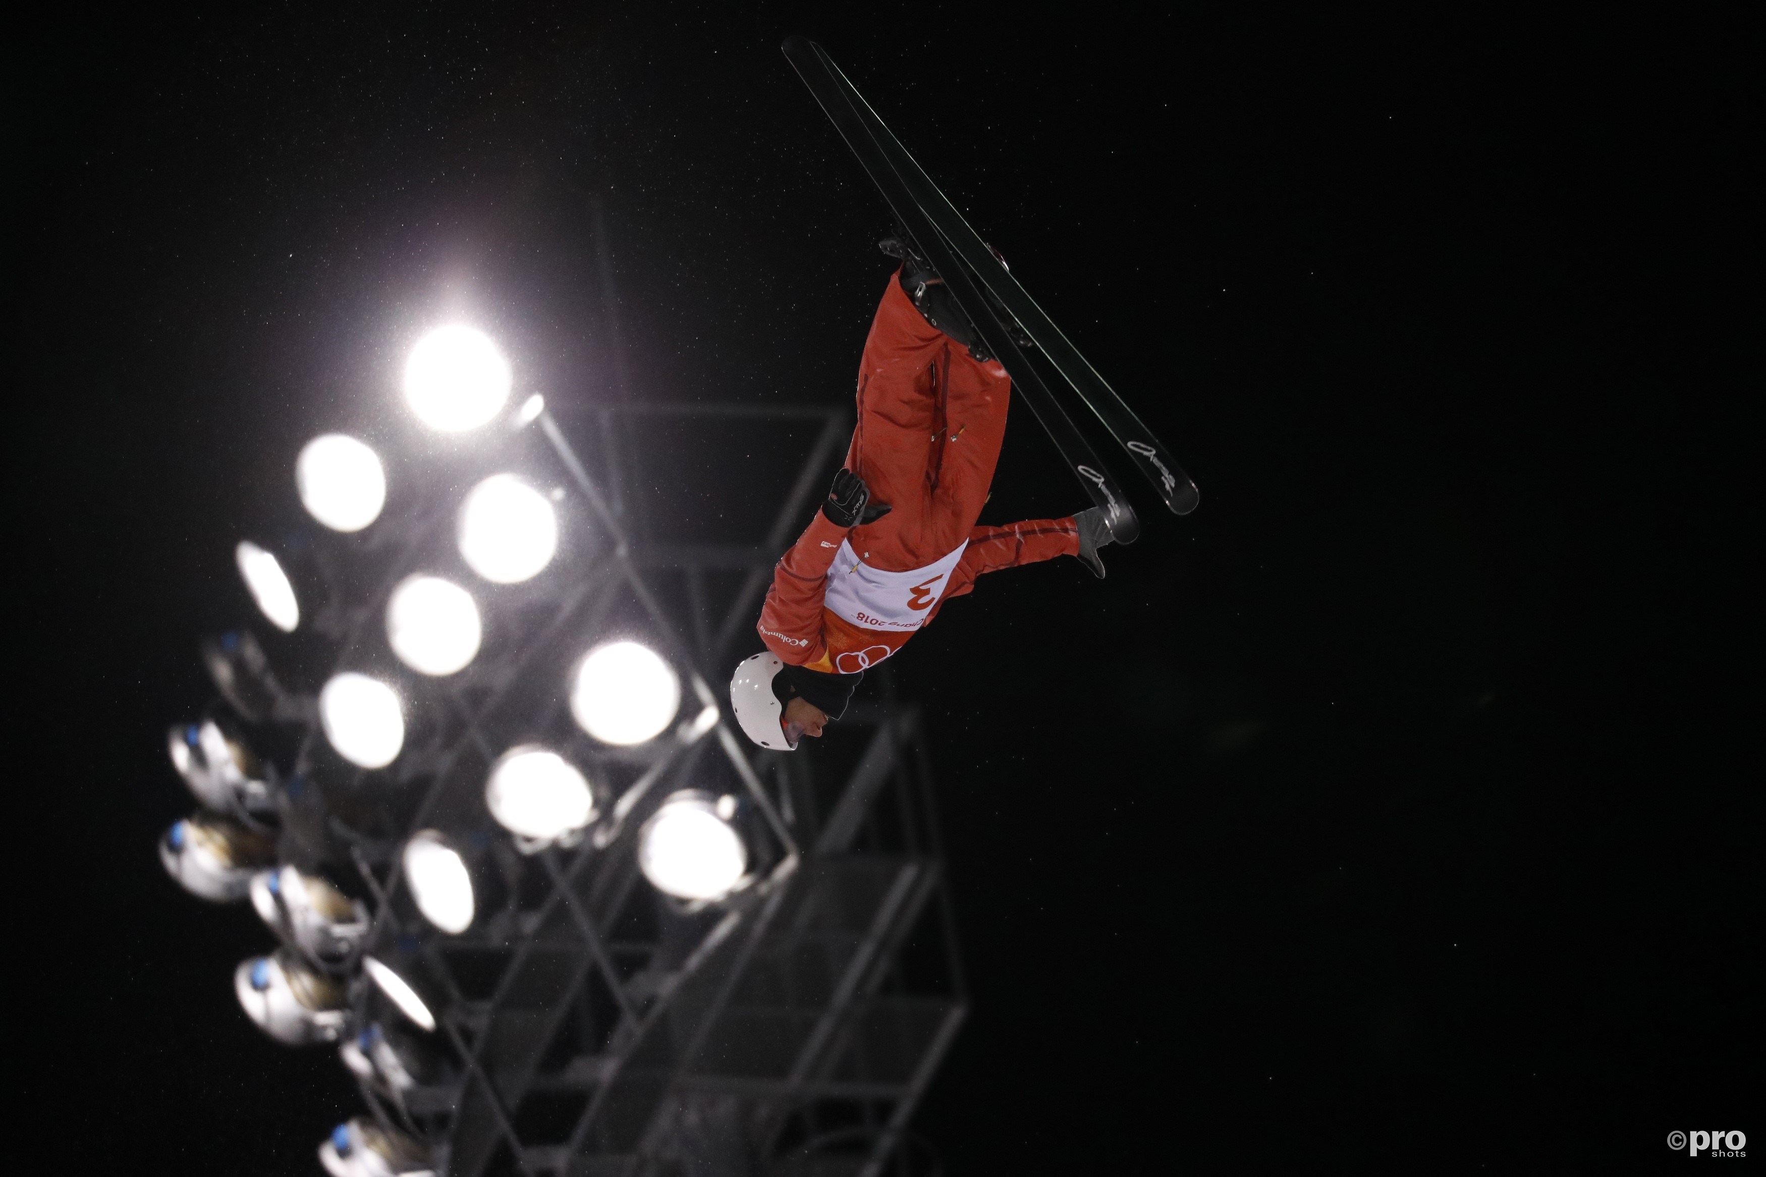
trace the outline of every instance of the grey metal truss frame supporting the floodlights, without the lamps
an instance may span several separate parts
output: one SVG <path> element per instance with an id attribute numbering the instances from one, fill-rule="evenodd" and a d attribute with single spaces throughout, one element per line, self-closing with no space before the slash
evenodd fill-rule
<path id="1" fill-rule="evenodd" d="M 392 803 L 380 805 L 385 828 L 351 824 L 339 803 L 373 789 L 357 773 L 309 803 L 323 808 L 325 845 L 307 836 L 291 847 L 307 859 L 336 859 L 343 847 L 374 909 L 367 951 L 424 978 L 456 1062 L 433 1087 L 364 1082 L 364 1098 L 383 1124 L 445 1142 L 449 1177 L 927 1172 L 901 1145 L 966 993 L 922 720 L 894 701 L 885 674 L 885 702 L 855 704 L 825 746 L 759 752 L 708 685 L 736 660 L 772 565 L 807 519 L 851 416 L 809 406 L 588 413 L 602 441 L 597 473 L 549 411 L 533 422 L 583 508 L 574 515 L 586 524 L 581 574 L 528 593 L 525 641 L 434 686 L 427 725 L 383 785 L 403 798 L 390 821 Z M 659 416 L 818 425 L 763 544 L 632 535 L 639 446 L 622 438 Z M 442 522 L 431 512 L 389 540 L 376 582 L 390 589 L 419 566 Z M 713 588 L 736 581 L 733 591 Z M 666 607 L 664 589 L 687 603 L 685 618 Z M 351 649 L 381 600 L 385 591 L 350 612 L 336 607 L 325 628 Z M 698 713 L 683 708 L 676 731 L 636 750 L 579 741 L 572 759 L 602 785 L 608 815 L 577 845 L 516 852 L 494 840 L 484 863 L 509 900 L 464 935 L 438 935 L 404 893 L 403 838 L 431 824 L 484 824 L 494 757 L 523 731 L 567 727 L 560 699 L 535 699 L 535 676 L 558 669 L 565 635 L 613 619 L 685 671 Z M 323 778 L 311 704 L 281 709 L 307 718 L 298 773 Z M 664 900 L 636 868 L 638 828 L 669 792 L 706 782 L 743 798 L 756 870 L 717 905 Z M 357 1023 L 387 1016 L 381 995 L 358 985 Z"/>

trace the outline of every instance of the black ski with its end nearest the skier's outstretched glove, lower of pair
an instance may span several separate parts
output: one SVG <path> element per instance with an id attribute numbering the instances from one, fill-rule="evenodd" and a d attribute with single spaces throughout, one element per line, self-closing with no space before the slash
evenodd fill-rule
<path id="1" fill-rule="evenodd" d="M 1091 445 L 1074 425 L 1072 418 L 1067 416 L 1060 401 L 1049 392 L 1049 386 L 1042 381 L 1037 369 L 1031 367 L 1010 334 L 1007 334 L 1005 325 L 992 311 L 992 304 L 982 296 L 980 288 L 975 284 L 975 277 L 957 263 L 955 252 L 938 231 L 934 221 L 927 215 L 920 201 L 913 198 L 901 173 L 883 154 L 872 131 L 865 127 L 858 113 L 864 99 L 858 99 L 857 104 L 848 99 L 846 90 L 851 86 L 844 83 L 841 72 L 814 42 L 804 37 L 791 37 L 784 42 L 784 55 L 796 67 L 809 92 L 816 95 L 816 101 L 826 111 L 841 138 L 853 148 L 853 155 L 871 173 L 872 184 L 883 192 L 883 199 L 888 201 L 895 219 L 908 229 L 908 236 L 913 238 L 920 256 L 932 263 L 945 279 L 945 286 L 950 288 L 957 304 L 970 316 L 970 321 L 975 323 L 982 342 L 987 344 L 992 355 L 1000 356 L 1000 364 L 1005 365 L 1007 374 L 1012 378 L 1012 386 L 1030 404 L 1037 420 L 1042 422 L 1042 427 L 1054 441 L 1054 448 L 1061 452 L 1061 457 L 1086 487 L 1091 501 L 1109 515 L 1111 533 L 1116 536 L 1116 542 L 1132 544 L 1141 535 L 1141 521 L 1136 519 L 1128 498 L 1121 492 L 1121 485 L 1091 450 Z"/>

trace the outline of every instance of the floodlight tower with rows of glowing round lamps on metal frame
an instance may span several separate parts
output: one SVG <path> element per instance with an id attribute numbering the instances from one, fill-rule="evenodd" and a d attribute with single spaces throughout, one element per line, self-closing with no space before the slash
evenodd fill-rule
<path id="1" fill-rule="evenodd" d="M 855 704 L 784 757 L 710 688 L 846 409 L 600 390 L 560 420 L 509 409 L 516 372 L 442 326 L 403 394 L 445 459 L 300 450 L 298 575 L 240 544 L 267 626 L 203 644 L 224 702 L 168 741 L 203 806 L 168 870 L 249 896 L 279 948 L 242 1008 L 358 1080 L 330 1173 L 920 1172 L 908 1119 L 966 1002 L 917 711 Z M 795 455 L 765 535 L 673 536 L 659 434 L 676 471 L 731 434 Z"/>

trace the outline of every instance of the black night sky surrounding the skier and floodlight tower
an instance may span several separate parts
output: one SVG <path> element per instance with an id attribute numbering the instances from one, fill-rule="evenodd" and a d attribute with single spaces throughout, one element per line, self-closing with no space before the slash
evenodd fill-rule
<path id="1" fill-rule="evenodd" d="M 1757 300 L 1697 274 L 1740 244 L 1729 30 L 643 12 L 14 41 L 9 1055 L 67 1172 L 318 1172 L 355 1110 L 237 1009 L 251 912 L 159 870 L 161 738 L 253 505 L 397 411 L 411 332 L 470 314 L 525 386 L 606 395 L 599 199 L 638 395 L 849 395 L 888 221 L 788 32 L 1203 489 L 1174 519 L 1130 485 L 1107 581 L 989 579 L 901 660 L 975 990 L 918 1117 L 950 1170 L 1766 1131 L 1757 718 L 1699 565 L 1752 547 L 1709 480 Z M 1083 503 L 1017 411 L 984 521 Z"/>

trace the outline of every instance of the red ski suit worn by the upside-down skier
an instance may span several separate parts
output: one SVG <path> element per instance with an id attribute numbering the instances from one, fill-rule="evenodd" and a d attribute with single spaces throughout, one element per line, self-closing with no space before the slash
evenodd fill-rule
<path id="1" fill-rule="evenodd" d="M 1079 528 L 1070 517 L 975 526 L 1005 441 L 1010 394 L 1000 362 L 970 356 L 927 323 L 890 277 L 858 364 L 858 427 L 846 452 L 846 468 L 865 480 L 871 503 L 887 503 L 890 512 L 857 528 L 816 512 L 774 568 L 756 626 L 768 649 L 812 671 L 864 671 L 901 649 L 984 572 L 1079 554 Z M 842 565 L 851 566 L 835 566 L 842 540 L 849 544 Z M 954 566 L 934 566 L 964 544 Z M 915 570 L 925 579 L 876 575 Z M 851 574 L 858 575 L 846 584 L 865 577 L 872 584 L 855 596 L 837 584 Z M 846 616 L 828 607 L 830 584 Z M 855 609 L 855 600 L 871 612 Z"/>

